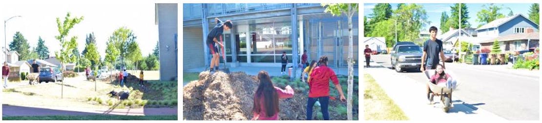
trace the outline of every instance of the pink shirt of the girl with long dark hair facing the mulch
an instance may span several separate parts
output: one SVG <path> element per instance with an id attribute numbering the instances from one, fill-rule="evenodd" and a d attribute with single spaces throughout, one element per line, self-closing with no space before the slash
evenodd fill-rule
<path id="1" fill-rule="evenodd" d="M 294 89 L 291 87 L 285 88 L 285 90 L 280 89 L 279 87 L 275 87 L 276 93 L 279 95 L 279 99 L 286 99 L 286 98 L 292 98 L 294 96 Z M 256 98 L 256 95 L 254 95 L 254 98 Z M 253 112 L 254 117 L 256 118 L 259 116 L 257 120 L 279 120 L 279 112 L 276 112 L 275 115 L 266 117 L 266 106 L 265 103 L 263 103 L 263 96 L 260 98 L 260 113 Z"/>

